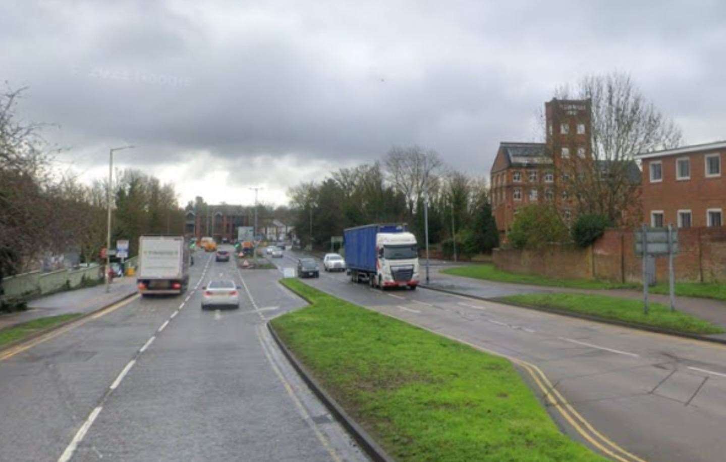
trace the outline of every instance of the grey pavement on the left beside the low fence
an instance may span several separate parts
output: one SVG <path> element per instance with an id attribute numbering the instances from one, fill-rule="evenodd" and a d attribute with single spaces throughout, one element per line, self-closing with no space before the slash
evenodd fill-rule
<path id="1" fill-rule="evenodd" d="M 136 293 L 136 278 L 129 276 L 114 279 L 108 293 L 104 284 L 54 293 L 29 301 L 28 309 L 25 311 L 0 315 L 0 329 L 26 323 L 38 317 L 93 312 L 121 301 L 133 293 Z"/>

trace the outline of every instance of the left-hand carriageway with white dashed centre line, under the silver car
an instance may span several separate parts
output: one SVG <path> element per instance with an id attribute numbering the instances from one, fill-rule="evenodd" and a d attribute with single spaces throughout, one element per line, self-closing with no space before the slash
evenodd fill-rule
<path id="1" fill-rule="evenodd" d="M 280 273 L 195 262 L 184 296 L 134 299 L 0 361 L 0 461 L 366 460 L 264 327 L 305 305 Z M 242 285 L 239 310 L 200 310 L 193 289 L 216 278 Z"/>

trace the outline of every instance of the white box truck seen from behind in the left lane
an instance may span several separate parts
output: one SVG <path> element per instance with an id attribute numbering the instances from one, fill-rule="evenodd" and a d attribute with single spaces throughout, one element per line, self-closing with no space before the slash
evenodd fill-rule
<path id="1" fill-rule="evenodd" d="M 189 248 L 184 236 L 141 236 L 136 287 L 142 295 L 182 293 L 189 285 Z"/>

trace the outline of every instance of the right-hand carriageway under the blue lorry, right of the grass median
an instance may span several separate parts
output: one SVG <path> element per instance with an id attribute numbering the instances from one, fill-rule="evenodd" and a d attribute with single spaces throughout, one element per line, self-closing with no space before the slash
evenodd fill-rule
<path id="1" fill-rule="evenodd" d="M 281 266 L 293 266 L 294 256 Z M 321 264 L 322 271 L 322 264 Z M 600 434 L 649 461 L 726 460 L 726 346 L 321 272 L 310 285 L 537 365 Z M 542 393 L 538 393 L 542 397 Z M 564 431 L 581 439 L 551 406 Z"/>

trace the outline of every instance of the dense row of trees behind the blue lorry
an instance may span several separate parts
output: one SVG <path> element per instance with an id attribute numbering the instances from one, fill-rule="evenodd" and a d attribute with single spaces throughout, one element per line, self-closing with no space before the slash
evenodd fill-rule
<path id="1" fill-rule="evenodd" d="M 406 223 L 423 247 L 472 256 L 498 245 L 486 179 L 451 169 L 435 150 L 394 146 L 379 161 L 331 171 L 322 182 L 288 190 L 295 234 L 303 245 L 330 248 L 347 227 Z"/>

